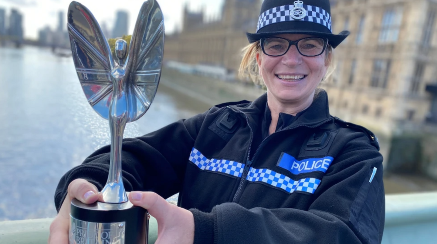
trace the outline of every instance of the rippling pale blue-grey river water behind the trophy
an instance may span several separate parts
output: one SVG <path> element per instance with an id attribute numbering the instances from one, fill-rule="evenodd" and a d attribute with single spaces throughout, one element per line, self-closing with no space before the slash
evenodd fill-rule
<path id="1" fill-rule="evenodd" d="M 207 107 L 161 84 L 124 135 L 141 136 Z M 0 47 L 0 221 L 54 217 L 61 176 L 109 143 L 108 121 L 88 104 L 72 58 Z"/>

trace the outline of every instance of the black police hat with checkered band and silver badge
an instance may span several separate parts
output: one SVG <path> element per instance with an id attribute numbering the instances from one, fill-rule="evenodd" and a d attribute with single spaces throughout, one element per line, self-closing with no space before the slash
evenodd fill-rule
<path id="1" fill-rule="evenodd" d="M 349 35 L 349 31 L 332 34 L 329 0 L 264 0 L 257 32 L 247 33 L 247 39 L 253 43 L 277 34 L 326 37 L 335 48 Z"/>

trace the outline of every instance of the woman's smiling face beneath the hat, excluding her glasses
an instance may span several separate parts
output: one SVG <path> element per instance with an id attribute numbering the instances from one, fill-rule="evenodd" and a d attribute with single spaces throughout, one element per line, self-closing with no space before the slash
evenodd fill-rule
<path id="1" fill-rule="evenodd" d="M 296 41 L 311 36 L 281 34 L 277 37 Z M 296 46 L 291 46 L 286 54 L 279 57 L 268 56 L 262 51 L 257 54 L 257 63 L 267 87 L 268 99 L 270 101 L 274 99 L 275 104 L 294 104 L 294 106 L 308 104 L 309 106 L 314 91 L 329 67 L 329 58 L 326 55 L 325 51 L 319 56 L 305 57 L 298 52 Z"/>

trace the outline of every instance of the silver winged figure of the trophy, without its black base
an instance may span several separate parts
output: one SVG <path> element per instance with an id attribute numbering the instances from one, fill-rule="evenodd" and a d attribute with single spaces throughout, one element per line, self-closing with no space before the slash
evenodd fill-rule
<path id="1" fill-rule="evenodd" d="M 164 21 L 156 0 L 142 4 L 130 47 L 115 43 L 115 59 L 93 14 L 78 2 L 68 9 L 68 32 L 83 92 L 94 110 L 109 120 L 111 163 L 102 190 L 106 203 L 128 201 L 121 177 L 121 141 L 127 122 L 139 119 L 153 102 L 161 75 Z"/>

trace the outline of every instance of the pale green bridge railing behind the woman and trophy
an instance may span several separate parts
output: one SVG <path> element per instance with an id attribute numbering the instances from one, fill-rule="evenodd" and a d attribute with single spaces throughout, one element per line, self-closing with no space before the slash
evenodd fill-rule
<path id="1" fill-rule="evenodd" d="M 0 244 L 46 244 L 52 219 L 0 222 Z M 150 220 L 149 243 L 158 233 Z M 436 244 L 437 192 L 385 196 L 382 244 Z"/>

